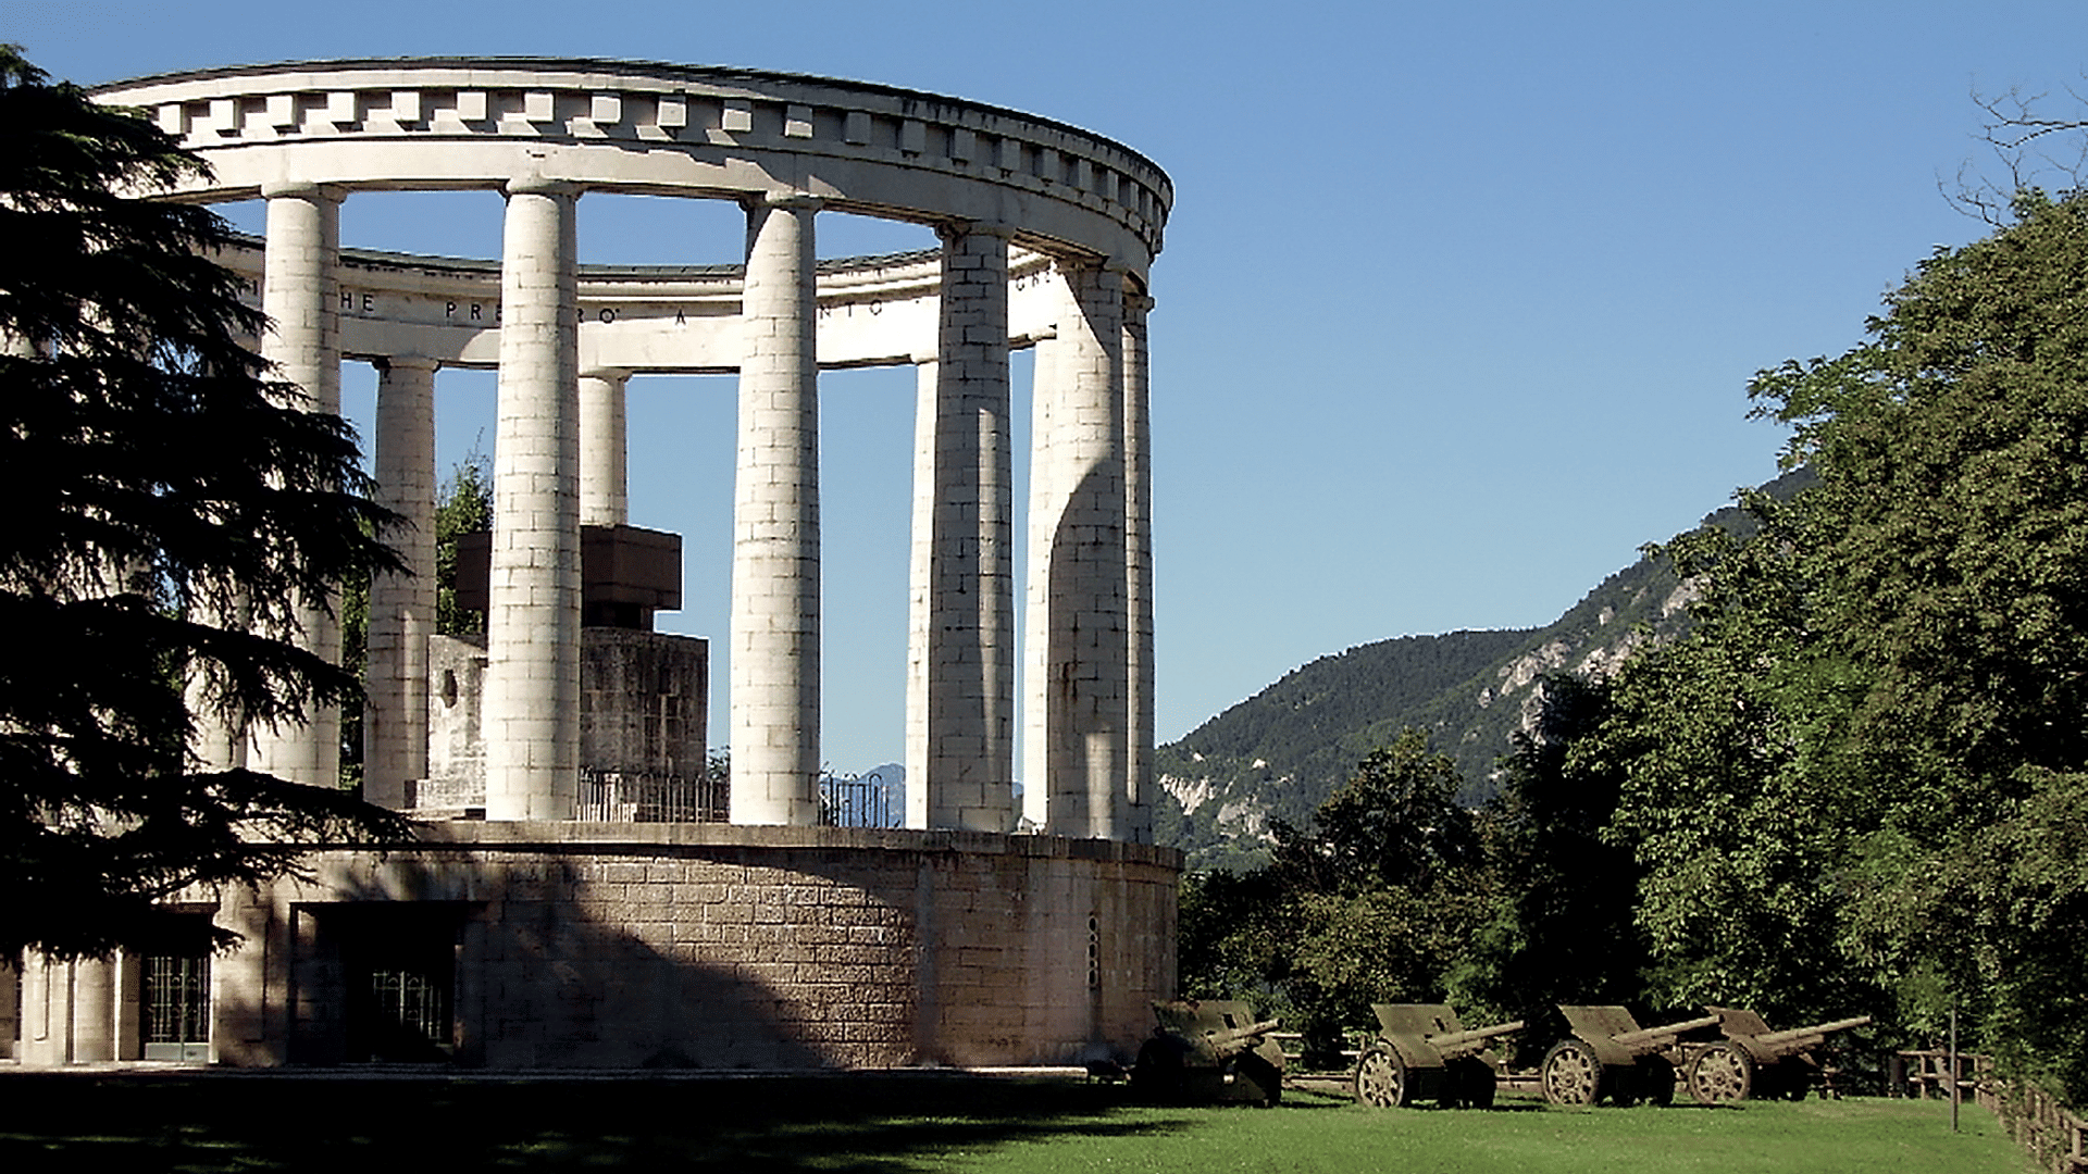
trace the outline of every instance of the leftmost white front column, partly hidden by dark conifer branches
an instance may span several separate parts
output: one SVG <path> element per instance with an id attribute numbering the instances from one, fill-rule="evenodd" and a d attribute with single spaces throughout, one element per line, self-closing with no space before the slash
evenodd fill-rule
<path id="1" fill-rule="evenodd" d="M 305 391 L 307 412 L 340 414 L 340 192 L 317 184 L 274 184 L 267 198 L 261 309 L 269 328 L 261 357 Z M 292 600 L 288 633 L 301 648 L 340 662 L 340 620 L 324 600 Z M 253 769 L 322 788 L 340 785 L 340 708 L 313 706 L 305 725 L 255 729 Z"/>

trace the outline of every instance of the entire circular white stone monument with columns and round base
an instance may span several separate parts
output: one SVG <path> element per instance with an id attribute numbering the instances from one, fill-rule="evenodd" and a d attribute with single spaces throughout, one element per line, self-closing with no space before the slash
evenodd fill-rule
<path id="1" fill-rule="evenodd" d="M 322 848 L 307 879 L 196 894 L 198 928 L 244 936 L 230 955 L 169 942 L 25 959 L 19 1005 L 0 992 L 17 1061 L 1130 1057 L 1150 1001 L 1176 994 L 1180 875 L 1148 817 L 1144 322 L 1171 203 L 1159 167 L 1006 109 L 741 69 L 324 61 L 96 96 L 142 107 L 211 163 L 186 198 L 267 201 L 265 240 L 226 261 L 253 278 L 274 320 L 263 353 L 313 409 L 338 412 L 342 361 L 378 368 L 376 476 L 413 522 L 403 545 L 418 574 L 372 585 L 365 796 L 426 819 L 407 848 Z M 503 192 L 499 259 L 340 244 L 342 201 L 457 188 Z M 578 265 L 591 192 L 735 201 L 745 255 Z M 933 226 L 940 249 L 816 261 L 827 211 Z M 1011 476 L 1021 347 L 1038 351 L 1027 489 Z M 919 372 L 902 829 L 823 827 L 818 804 L 818 372 L 873 363 Z M 447 368 L 499 372 L 482 652 L 432 639 L 432 397 Z M 608 712 L 583 702 L 587 633 L 643 643 L 662 606 L 645 591 L 666 587 L 583 583 L 595 535 L 651 541 L 628 526 L 624 384 L 656 372 L 739 378 L 733 765 L 716 813 L 583 794 L 585 714 Z M 338 648 L 319 612 L 305 631 Z M 616 656 L 649 656 L 637 643 Z M 677 681 L 689 656 L 702 662 L 687 652 Z M 595 679 L 662 675 L 618 664 Z M 441 717 L 474 689 L 478 706 Z M 430 712 L 436 762 L 476 756 L 476 808 L 430 802 Z M 689 731 L 674 737 L 681 750 L 635 754 L 687 758 Z M 336 775 L 328 714 L 207 744 L 313 785 Z M 718 815 L 729 823 L 704 821 Z"/>

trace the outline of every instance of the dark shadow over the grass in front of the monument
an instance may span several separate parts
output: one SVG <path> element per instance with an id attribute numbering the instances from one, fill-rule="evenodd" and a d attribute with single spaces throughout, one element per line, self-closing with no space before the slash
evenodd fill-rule
<path id="1" fill-rule="evenodd" d="M 0 1076 L 0 1170 L 823 1170 L 906 1174 L 1190 1118 L 1121 1086 L 960 1076 L 447 1080 Z"/>

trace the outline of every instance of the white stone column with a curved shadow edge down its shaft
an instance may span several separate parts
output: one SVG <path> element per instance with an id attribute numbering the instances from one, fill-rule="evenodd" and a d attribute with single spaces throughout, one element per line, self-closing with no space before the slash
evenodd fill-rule
<path id="1" fill-rule="evenodd" d="M 1061 261 L 1065 311 L 1050 382 L 1038 386 L 1031 468 L 1029 608 L 1042 610 L 1044 829 L 1121 840 L 1130 833 L 1130 616 L 1123 480 L 1123 274 Z M 1036 671 L 1034 671 L 1036 673 Z M 1036 721 L 1031 723 L 1036 725 Z"/>

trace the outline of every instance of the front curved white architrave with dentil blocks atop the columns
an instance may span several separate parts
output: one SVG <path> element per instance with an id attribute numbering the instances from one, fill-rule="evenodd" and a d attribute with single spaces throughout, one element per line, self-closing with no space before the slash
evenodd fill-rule
<path id="1" fill-rule="evenodd" d="M 1173 186 L 1136 150 L 1034 115 L 892 86 L 560 58 L 253 65 L 94 90 L 142 107 L 248 198 L 282 175 L 347 190 L 499 188 L 741 198 L 1017 228 L 1144 274 Z"/>

